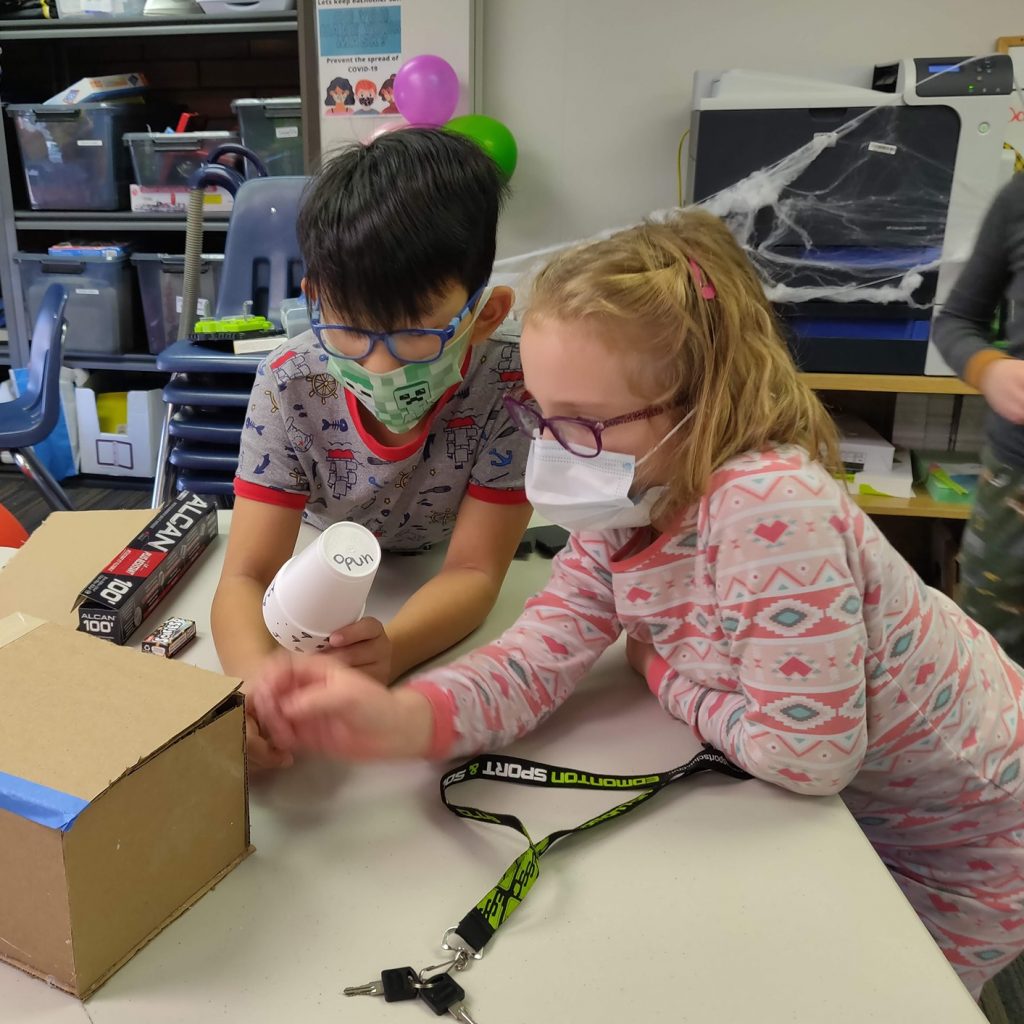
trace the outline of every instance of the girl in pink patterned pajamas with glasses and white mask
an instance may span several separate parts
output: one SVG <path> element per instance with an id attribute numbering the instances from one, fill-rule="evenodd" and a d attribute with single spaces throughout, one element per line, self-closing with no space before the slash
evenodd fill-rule
<path id="1" fill-rule="evenodd" d="M 501 746 L 625 630 L 701 739 L 842 794 L 977 997 L 1024 949 L 1021 670 L 819 461 L 830 422 L 728 230 L 687 211 L 558 256 L 521 354 L 527 496 L 572 531 L 547 589 L 397 690 L 282 662 L 254 693 L 264 730 L 349 759 Z"/>

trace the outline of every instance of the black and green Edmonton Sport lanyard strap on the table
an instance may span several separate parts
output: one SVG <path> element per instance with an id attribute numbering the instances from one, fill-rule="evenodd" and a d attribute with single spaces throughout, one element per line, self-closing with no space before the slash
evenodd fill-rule
<path id="1" fill-rule="evenodd" d="M 574 836 L 597 825 L 636 810 L 666 786 L 679 782 L 699 772 L 714 771 L 731 778 L 751 778 L 748 772 L 737 768 L 724 754 L 713 746 L 705 749 L 684 765 L 670 771 L 650 775 L 603 775 L 593 772 L 559 768 L 556 765 L 541 764 L 524 758 L 512 758 L 503 754 L 481 754 L 467 761 L 441 779 L 441 800 L 444 806 L 460 817 L 471 821 L 485 821 L 496 825 L 506 825 L 524 836 L 529 846 L 509 864 L 508 870 L 498 884 L 480 899 L 476 906 L 450 931 L 459 936 L 476 952 L 479 952 L 493 938 L 495 932 L 509 919 L 512 911 L 526 898 L 541 871 L 543 857 L 559 840 Z M 549 790 L 605 790 L 639 791 L 625 803 L 616 804 L 610 810 L 584 821 L 574 828 L 559 828 L 535 843 L 525 825 L 514 814 L 494 814 L 476 807 L 464 807 L 449 800 L 449 790 L 470 779 L 486 779 L 492 782 L 514 782 L 516 785 L 538 785 Z M 445 933 L 447 934 L 447 933 Z"/>

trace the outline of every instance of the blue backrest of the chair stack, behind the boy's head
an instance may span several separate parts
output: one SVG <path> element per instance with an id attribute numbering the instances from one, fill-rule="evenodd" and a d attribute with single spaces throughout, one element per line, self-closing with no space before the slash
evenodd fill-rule
<path id="1" fill-rule="evenodd" d="M 281 327 L 281 303 L 301 294 L 302 254 L 295 231 L 307 178 L 253 178 L 234 198 L 217 296 L 218 317 L 253 312 Z"/>

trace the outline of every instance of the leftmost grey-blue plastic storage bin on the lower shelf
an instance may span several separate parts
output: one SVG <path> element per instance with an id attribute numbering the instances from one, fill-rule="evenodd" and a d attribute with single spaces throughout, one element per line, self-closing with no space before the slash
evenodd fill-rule
<path id="1" fill-rule="evenodd" d="M 134 313 L 131 264 L 127 256 L 48 256 L 17 253 L 22 291 L 33 324 L 50 285 L 68 289 L 65 350 L 118 353 L 131 348 Z"/>

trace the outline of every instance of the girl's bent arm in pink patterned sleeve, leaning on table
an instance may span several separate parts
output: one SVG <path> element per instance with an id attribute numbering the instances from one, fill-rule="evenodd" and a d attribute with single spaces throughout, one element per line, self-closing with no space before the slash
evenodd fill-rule
<path id="1" fill-rule="evenodd" d="M 753 775 L 811 795 L 839 793 L 859 771 L 865 671 L 878 665 L 851 568 L 861 539 L 830 489 L 823 474 L 798 470 L 765 473 L 756 487 L 740 479 L 711 499 L 716 610 L 737 689 L 687 680 L 656 654 L 646 669 L 700 738 Z M 755 496 L 764 490 L 771 497 Z"/>

